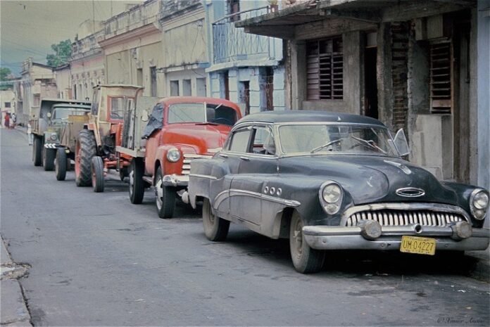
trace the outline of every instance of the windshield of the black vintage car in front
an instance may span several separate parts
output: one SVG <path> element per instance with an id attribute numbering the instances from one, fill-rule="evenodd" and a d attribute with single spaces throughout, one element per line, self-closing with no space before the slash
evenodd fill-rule
<path id="1" fill-rule="evenodd" d="M 386 128 L 342 124 L 291 124 L 279 127 L 282 152 L 342 153 L 398 157 Z"/>

